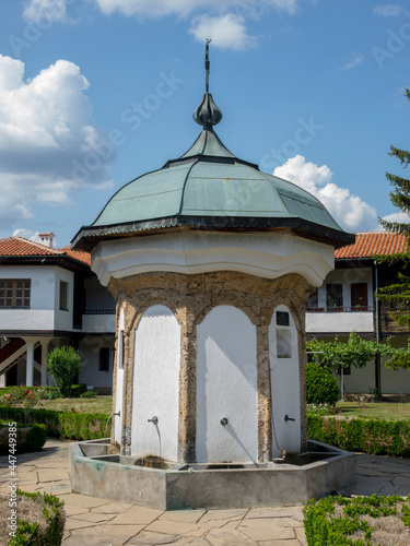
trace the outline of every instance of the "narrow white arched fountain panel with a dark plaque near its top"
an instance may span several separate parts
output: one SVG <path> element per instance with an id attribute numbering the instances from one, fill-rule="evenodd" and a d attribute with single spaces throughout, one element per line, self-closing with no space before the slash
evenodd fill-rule
<path id="1" fill-rule="evenodd" d="M 278 324 L 277 312 L 289 313 L 289 325 Z M 288 307 L 280 305 L 269 327 L 270 384 L 272 395 L 273 456 L 301 451 L 301 378 L 297 331 Z M 295 419 L 285 422 L 285 415 Z"/>

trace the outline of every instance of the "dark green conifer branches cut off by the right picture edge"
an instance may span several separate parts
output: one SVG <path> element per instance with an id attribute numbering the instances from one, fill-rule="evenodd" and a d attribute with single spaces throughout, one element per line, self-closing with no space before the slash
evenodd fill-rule
<path id="1" fill-rule="evenodd" d="M 410 100 L 410 90 L 406 90 L 406 96 Z M 407 168 L 410 163 L 410 152 L 390 146 L 389 155 L 399 159 L 403 168 Z M 393 186 L 390 191 L 391 203 L 405 214 L 410 214 L 410 180 L 390 173 L 386 173 L 386 178 Z M 379 218 L 382 227 L 388 232 L 401 233 L 407 237 L 409 244 L 410 223 L 405 222 L 387 222 Z M 398 272 L 397 280 L 388 285 L 379 288 L 377 297 L 380 301 L 388 304 L 395 308 L 395 312 L 390 312 L 390 317 L 399 325 L 410 327 L 410 276 L 406 274 L 406 269 L 410 264 L 410 252 L 396 254 L 394 257 L 376 257 L 379 263 L 387 262 L 390 265 L 396 264 L 402 269 Z"/>

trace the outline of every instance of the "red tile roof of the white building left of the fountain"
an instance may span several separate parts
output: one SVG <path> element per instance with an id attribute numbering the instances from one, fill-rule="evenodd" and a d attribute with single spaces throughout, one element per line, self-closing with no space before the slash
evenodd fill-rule
<path id="1" fill-rule="evenodd" d="M 79 252 L 71 250 L 70 246 L 62 248 L 49 248 L 42 242 L 35 242 L 24 237 L 7 237 L 0 239 L 0 257 L 30 257 L 30 256 L 60 256 L 70 257 L 74 260 L 91 265 L 91 257 L 89 252 Z"/>

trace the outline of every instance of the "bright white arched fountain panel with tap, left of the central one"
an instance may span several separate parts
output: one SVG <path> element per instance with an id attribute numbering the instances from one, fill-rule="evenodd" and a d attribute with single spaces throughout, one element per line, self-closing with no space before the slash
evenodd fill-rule
<path id="1" fill-rule="evenodd" d="M 148 309 L 137 327 L 131 454 L 178 456 L 180 327 L 165 306 Z M 157 417 L 155 425 L 149 419 Z"/>

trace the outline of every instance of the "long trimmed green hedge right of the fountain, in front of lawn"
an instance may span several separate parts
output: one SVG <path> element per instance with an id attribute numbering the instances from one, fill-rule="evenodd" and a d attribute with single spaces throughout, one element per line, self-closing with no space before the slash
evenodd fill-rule
<path id="1" fill-rule="evenodd" d="M 348 451 L 410 458 L 410 422 L 307 415 L 307 438 Z"/>

